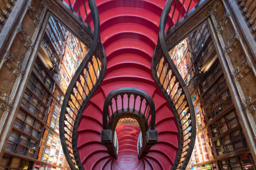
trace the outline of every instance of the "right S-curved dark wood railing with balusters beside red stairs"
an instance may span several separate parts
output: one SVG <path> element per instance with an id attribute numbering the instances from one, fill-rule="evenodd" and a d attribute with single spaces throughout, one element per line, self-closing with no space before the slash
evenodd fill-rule
<path id="1" fill-rule="evenodd" d="M 151 71 L 157 86 L 171 106 L 177 122 L 179 146 L 172 170 L 185 170 L 195 144 L 196 122 L 189 91 L 169 56 L 166 46 L 165 27 L 172 3 L 173 0 L 167 0 L 160 17 L 159 37 L 152 59 Z M 165 69 L 164 74 L 163 69 Z"/>

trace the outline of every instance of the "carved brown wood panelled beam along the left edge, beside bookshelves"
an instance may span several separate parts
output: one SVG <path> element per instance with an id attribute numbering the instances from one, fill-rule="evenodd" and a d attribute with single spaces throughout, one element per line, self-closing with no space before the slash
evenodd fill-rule
<path id="1" fill-rule="evenodd" d="M 46 10 L 42 10 L 43 4 L 34 7 L 37 0 L 28 0 L 25 10 L 20 14 L 20 19 L 15 20 L 16 27 L 6 43 L 5 51 L 0 54 L 0 148 L 4 148 L 4 143 L 8 132 L 12 127 L 13 117 L 16 108 L 12 106 L 19 102 L 17 96 L 19 91 L 23 91 L 20 83 L 23 81 L 28 62 L 35 56 L 32 55 L 37 40 L 42 20 Z M 39 17 L 40 16 L 40 17 Z M 29 23 L 29 24 L 28 24 Z M 34 26 L 33 26 L 34 25 Z M 2 56 L 2 57 L 1 57 Z M 0 154 L 3 150 L 0 150 Z M 1 156 L 1 155 L 0 155 Z"/>

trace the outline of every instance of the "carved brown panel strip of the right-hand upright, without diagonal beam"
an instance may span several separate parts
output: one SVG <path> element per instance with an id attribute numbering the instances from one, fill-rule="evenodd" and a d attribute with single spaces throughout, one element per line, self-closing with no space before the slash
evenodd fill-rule
<path id="1" fill-rule="evenodd" d="M 235 23 L 230 18 L 227 6 L 218 0 L 216 14 L 212 14 L 211 20 L 215 32 L 222 47 L 222 52 L 229 66 L 233 82 L 236 85 L 239 97 L 247 118 L 253 118 L 252 127 L 256 127 L 256 69 L 250 51 L 247 51 L 246 44 L 239 38 Z M 218 14 L 217 14 L 218 13 Z M 221 17 L 222 15 L 222 17 Z M 249 116 L 250 115 L 250 116 Z M 254 134 L 256 128 L 253 128 Z M 256 140 L 256 138 L 255 138 Z"/>

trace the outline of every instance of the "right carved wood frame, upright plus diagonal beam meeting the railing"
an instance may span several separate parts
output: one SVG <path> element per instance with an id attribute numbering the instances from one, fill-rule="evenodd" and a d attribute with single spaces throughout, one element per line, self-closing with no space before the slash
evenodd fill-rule
<path id="1" fill-rule="evenodd" d="M 199 8 L 200 6 L 198 6 Z M 244 41 L 241 31 L 238 29 L 233 15 L 226 0 L 206 1 L 201 10 L 194 9 L 196 14 L 193 17 L 184 18 L 177 28 L 171 28 L 166 35 L 166 45 L 169 50 L 181 40 L 188 37 L 201 23 L 210 18 L 213 23 L 214 32 L 217 35 L 220 53 L 227 63 L 227 74 L 231 74 L 230 81 L 236 87 L 233 89 L 237 98 L 240 114 L 244 118 L 240 120 L 245 124 L 244 131 L 247 131 L 247 139 L 256 145 L 256 63 L 251 53 L 251 48 Z M 192 11 L 193 13 L 193 11 Z M 224 62 L 224 61 L 223 61 Z M 240 107 L 241 106 L 241 107 Z M 243 116 L 241 116 L 243 117 Z M 247 119 L 247 120 L 244 120 Z M 251 136 L 249 135 L 251 134 Z M 251 147 L 251 150 L 254 150 Z M 256 151 L 254 150 L 256 157 Z M 254 158 L 255 158 L 254 157 Z"/>

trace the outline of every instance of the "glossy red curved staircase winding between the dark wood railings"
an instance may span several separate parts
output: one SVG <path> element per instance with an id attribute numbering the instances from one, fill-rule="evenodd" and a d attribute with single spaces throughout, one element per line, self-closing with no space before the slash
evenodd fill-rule
<path id="1" fill-rule="evenodd" d="M 182 0 L 180 1 L 175 19 L 181 8 Z M 82 1 L 78 0 L 78 3 L 81 6 L 81 15 L 85 18 Z M 80 159 L 86 170 L 172 168 L 178 148 L 177 125 L 172 109 L 151 75 L 151 59 L 157 44 L 158 25 L 165 3 L 165 0 L 96 0 L 101 41 L 108 66 L 105 78 L 85 108 L 79 125 L 77 144 Z M 180 18 L 185 14 L 188 3 L 189 0 L 185 0 Z M 192 2 L 190 8 L 193 6 L 195 2 Z M 73 7 L 74 11 L 77 11 L 74 2 Z M 91 18 L 90 11 L 88 18 Z M 170 18 L 171 16 L 169 20 Z M 91 19 L 90 25 L 93 26 Z M 155 129 L 158 130 L 159 140 L 143 159 L 137 159 L 137 138 L 140 129 L 133 125 L 116 128 L 119 141 L 117 160 L 109 156 L 106 147 L 100 142 L 105 97 L 117 88 L 139 88 L 154 100 Z"/>

